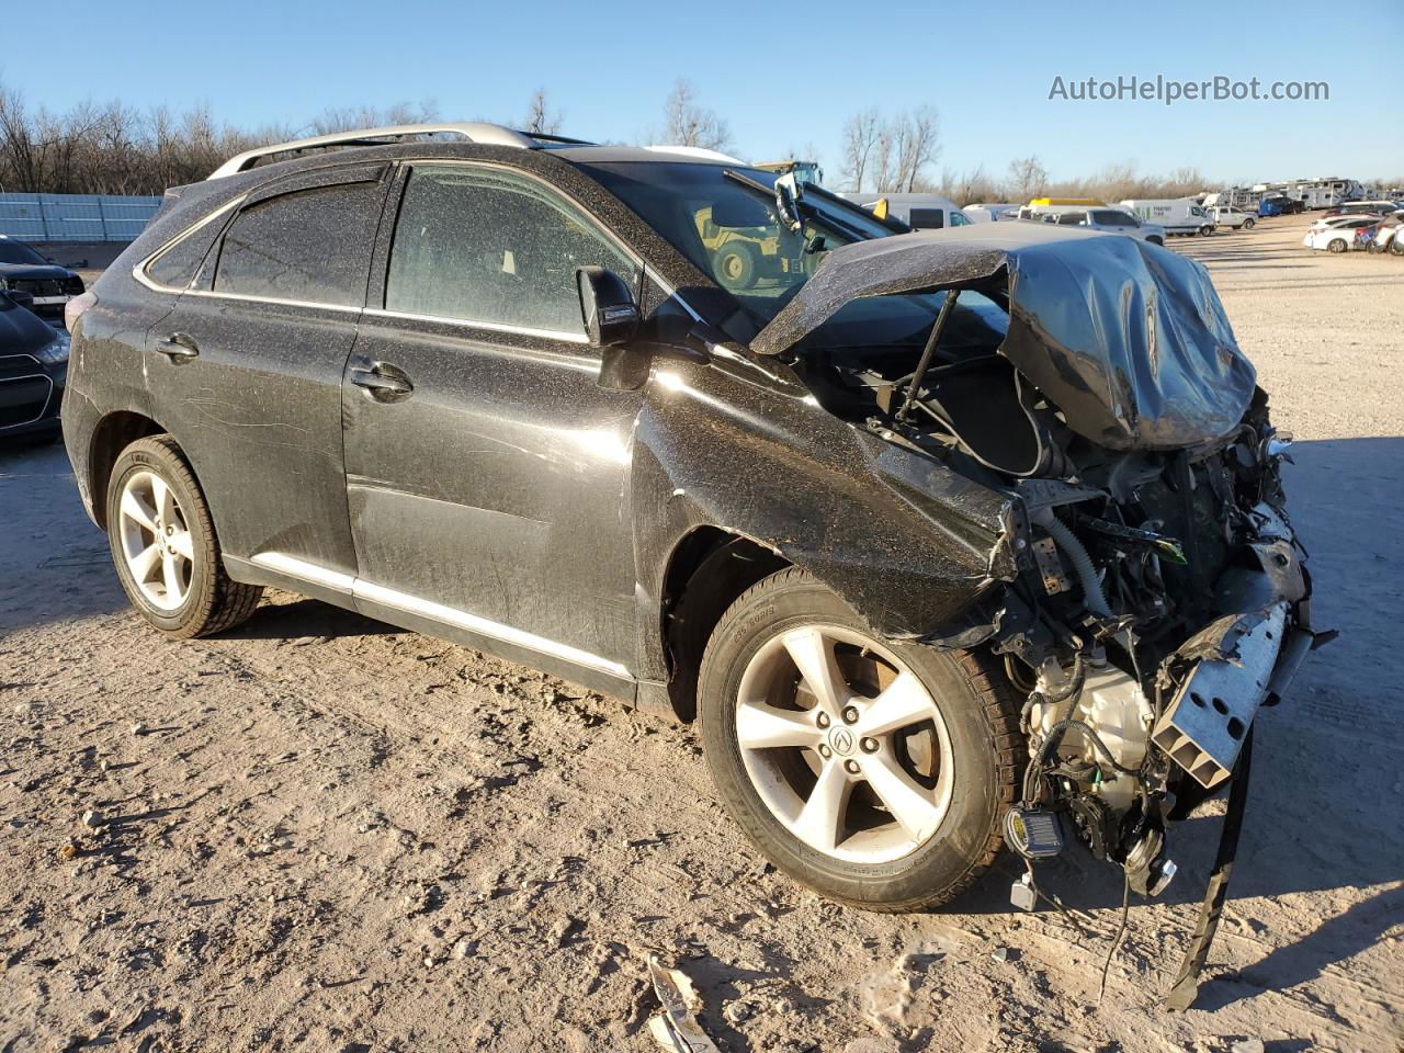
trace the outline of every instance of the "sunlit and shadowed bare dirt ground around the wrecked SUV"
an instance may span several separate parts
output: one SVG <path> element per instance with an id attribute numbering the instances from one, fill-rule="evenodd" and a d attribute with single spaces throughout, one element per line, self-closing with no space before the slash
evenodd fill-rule
<path id="1" fill-rule="evenodd" d="M 286 594 L 157 637 L 44 446 L 0 451 L 0 1052 L 647 1050 L 649 951 L 736 1052 L 1401 1049 L 1404 260 L 1311 256 L 1304 225 L 1172 243 L 1296 434 L 1342 632 L 1261 716 L 1195 1009 L 1158 998 L 1221 803 L 1172 831 L 1098 1005 L 1111 868 L 1040 869 L 1070 914 L 1012 911 L 1008 859 L 945 913 L 827 904 L 741 840 L 687 727 Z"/>

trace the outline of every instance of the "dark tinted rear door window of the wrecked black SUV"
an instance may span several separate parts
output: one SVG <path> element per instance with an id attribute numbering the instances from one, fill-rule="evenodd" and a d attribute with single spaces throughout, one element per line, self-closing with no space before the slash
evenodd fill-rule
<path id="1" fill-rule="evenodd" d="M 379 183 L 319 187 L 244 208 L 225 234 L 215 292 L 359 307 Z"/>

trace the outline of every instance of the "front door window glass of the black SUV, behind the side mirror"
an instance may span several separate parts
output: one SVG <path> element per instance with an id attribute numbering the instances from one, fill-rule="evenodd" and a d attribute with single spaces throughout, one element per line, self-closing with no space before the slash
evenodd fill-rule
<path id="1" fill-rule="evenodd" d="M 534 180 L 469 166 L 410 173 L 386 310 L 489 327 L 584 333 L 576 271 L 637 267 L 574 205 Z"/>

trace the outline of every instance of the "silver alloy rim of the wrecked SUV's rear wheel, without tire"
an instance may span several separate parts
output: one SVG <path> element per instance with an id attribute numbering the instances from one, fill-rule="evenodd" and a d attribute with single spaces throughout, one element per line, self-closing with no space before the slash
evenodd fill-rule
<path id="1" fill-rule="evenodd" d="M 118 505 L 122 557 L 138 591 L 157 611 L 176 611 L 190 595 L 195 546 L 170 484 L 133 472 Z"/>

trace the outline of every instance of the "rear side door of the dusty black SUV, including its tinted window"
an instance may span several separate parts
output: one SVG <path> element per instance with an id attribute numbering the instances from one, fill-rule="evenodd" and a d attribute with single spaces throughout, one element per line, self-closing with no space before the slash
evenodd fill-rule
<path id="1" fill-rule="evenodd" d="M 254 191 L 152 330 L 152 404 L 234 559 L 355 573 L 341 375 L 390 171 L 337 166 Z"/>

